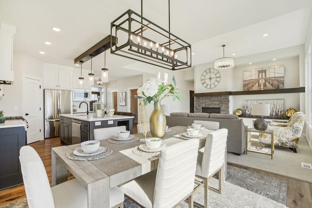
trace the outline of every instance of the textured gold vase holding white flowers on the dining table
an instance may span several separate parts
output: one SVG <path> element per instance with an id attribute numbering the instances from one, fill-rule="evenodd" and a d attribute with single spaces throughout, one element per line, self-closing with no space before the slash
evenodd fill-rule
<path id="1" fill-rule="evenodd" d="M 153 137 L 162 138 L 166 132 L 166 115 L 161 109 L 160 102 L 156 102 L 156 108 L 150 117 L 150 129 Z"/>

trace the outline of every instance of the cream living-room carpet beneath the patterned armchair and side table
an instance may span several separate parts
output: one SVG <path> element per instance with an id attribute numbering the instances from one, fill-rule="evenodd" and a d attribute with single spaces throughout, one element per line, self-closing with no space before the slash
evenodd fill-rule
<path id="1" fill-rule="evenodd" d="M 228 152 L 227 161 L 312 183 L 312 169 L 301 167 L 301 162 L 312 164 L 312 150 L 305 137 L 299 139 L 297 153 L 277 145 L 274 148 L 273 160 L 270 155 L 254 152 L 247 155 Z"/>

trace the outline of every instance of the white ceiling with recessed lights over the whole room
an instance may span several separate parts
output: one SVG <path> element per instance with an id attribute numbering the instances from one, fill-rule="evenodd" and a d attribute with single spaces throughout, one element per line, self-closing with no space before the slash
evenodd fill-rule
<path id="1" fill-rule="evenodd" d="M 78 70 L 74 59 L 108 36 L 110 23 L 128 9 L 140 14 L 141 1 L 0 0 L 0 22 L 16 27 L 14 51 Z M 171 0 L 170 31 L 192 45 L 195 66 L 222 57 L 223 44 L 225 56 L 234 58 L 304 44 L 311 11 L 312 0 Z M 143 0 L 143 17 L 169 30 L 168 0 Z M 106 65 L 110 81 L 152 66 L 109 50 Z M 97 77 L 103 66 L 104 53 L 93 58 Z"/>

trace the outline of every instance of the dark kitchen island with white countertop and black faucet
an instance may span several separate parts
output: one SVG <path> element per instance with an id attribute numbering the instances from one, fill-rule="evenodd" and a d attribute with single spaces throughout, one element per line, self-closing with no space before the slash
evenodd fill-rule
<path id="1" fill-rule="evenodd" d="M 93 114 L 60 114 L 59 137 L 67 144 L 78 144 L 87 140 L 94 140 L 93 130 L 99 128 L 126 126 L 132 133 L 134 116 L 113 115 L 109 117 L 93 117 Z"/>

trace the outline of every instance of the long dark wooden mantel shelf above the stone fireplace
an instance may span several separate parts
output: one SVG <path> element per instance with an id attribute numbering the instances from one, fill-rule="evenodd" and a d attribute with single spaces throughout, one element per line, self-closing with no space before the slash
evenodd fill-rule
<path id="1" fill-rule="evenodd" d="M 279 94 L 279 93 L 304 93 L 304 87 L 288 88 L 279 90 L 254 90 L 254 91 L 237 91 L 237 92 L 214 92 L 214 93 L 195 93 L 194 97 L 200 96 L 221 96 L 221 95 L 258 95 L 258 94 Z"/>

